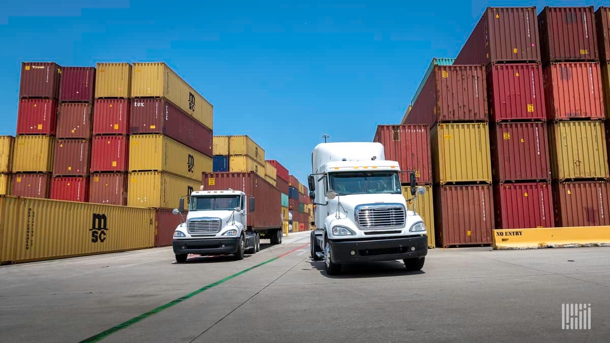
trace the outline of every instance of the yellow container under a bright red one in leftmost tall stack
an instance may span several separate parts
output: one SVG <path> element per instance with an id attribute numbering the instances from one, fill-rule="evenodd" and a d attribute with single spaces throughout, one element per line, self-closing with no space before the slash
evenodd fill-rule
<path id="1" fill-rule="evenodd" d="M 55 139 L 46 135 L 18 135 L 13 148 L 13 171 L 53 171 Z"/>

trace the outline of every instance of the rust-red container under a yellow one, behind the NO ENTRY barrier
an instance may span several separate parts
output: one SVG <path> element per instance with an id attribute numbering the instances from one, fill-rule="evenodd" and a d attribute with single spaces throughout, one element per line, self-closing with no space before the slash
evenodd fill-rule
<path id="1" fill-rule="evenodd" d="M 574 181 L 553 184 L 555 225 L 610 225 L 610 184 L 606 181 Z"/>

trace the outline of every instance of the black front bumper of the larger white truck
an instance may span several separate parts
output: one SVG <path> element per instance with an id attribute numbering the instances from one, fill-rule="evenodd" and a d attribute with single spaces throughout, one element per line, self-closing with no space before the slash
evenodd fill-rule
<path id="1" fill-rule="evenodd" d="M 428 254 L 428 236 L 371 240 L 329 240 L 332 262 L 354 263 L 419 258 Z"/>

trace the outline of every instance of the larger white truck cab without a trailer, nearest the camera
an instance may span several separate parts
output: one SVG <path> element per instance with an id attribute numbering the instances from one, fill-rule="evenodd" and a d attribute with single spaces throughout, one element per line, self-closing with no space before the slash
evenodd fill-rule
<path id="1" fill-rule="evenodd" d="M 315 204 L 311 256 L 324 260 L 328 275 L 342 264 L 402 259 L 421 270 L 428 236 L 417 214 L 415 173 L 411 173 L 413 211 L 401 191 L 398 162 L 386 161 L 381 143 L 321 143 L 312 153 L 309 196 Z"/>

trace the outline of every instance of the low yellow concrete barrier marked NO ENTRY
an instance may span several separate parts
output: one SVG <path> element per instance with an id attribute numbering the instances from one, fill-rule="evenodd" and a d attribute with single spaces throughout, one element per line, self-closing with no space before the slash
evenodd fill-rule
<path id="1" fill-rule="evenodd" d="M 610 247 L 610 226 L 493 230 L 493 248 Z"/>

